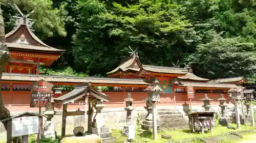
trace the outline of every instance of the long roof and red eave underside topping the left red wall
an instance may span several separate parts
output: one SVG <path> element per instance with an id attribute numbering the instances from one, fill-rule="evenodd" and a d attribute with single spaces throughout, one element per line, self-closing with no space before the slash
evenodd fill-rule
<path id="1" fill-rule="evenodd" d="M 58 75 L 36 75 L 36 74 L 18 74 L 3 73 L 2 83 L 32 83 L 44 79 L 52 84 L 60 85 L 77 85 L 81 83 L 91 82 L 97 86 L 131 86 L 131 87 L 148 87 L 152 83 L 147 79 L 125 79 L 125 78 L 105 78 L 105 77 L 79 77 L 79 76 L 58 76 Z"/>

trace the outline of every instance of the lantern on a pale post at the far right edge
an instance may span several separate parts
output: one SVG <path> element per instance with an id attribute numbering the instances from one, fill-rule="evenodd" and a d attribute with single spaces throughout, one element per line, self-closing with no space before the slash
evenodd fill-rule
<path id="1" fill-rule="evenodd" d="M 254 109 L 253 109 L 253 103 L 252 103 L 254 101 L 254 94 L 255 94 L 255 91 L 253 89 L 244 91 L 246 101 L 249 102 L 250 121 L 251 121 L 251 126 L 252 127 L 255 126 L 254 116 L 253 116 Z"/>

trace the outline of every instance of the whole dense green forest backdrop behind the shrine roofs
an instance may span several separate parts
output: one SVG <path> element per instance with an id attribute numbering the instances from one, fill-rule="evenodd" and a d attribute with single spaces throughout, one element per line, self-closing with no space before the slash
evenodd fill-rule
<path id="1" fill-rule="evenodd" d="M 67 50 L 51 69 L 41 68 L 46 74 L 105 76 L 129 55 L 130 45 L 138 47 L 143 64 L 171 67 L 173 62 L 204 78 L 256 81 L 256 1 L 41 1 L 52 10 L 36 13 L 35 34 Z M 8 33 L 18 13 L 2 8 Z M 55 14 L 52 20 L 42 18 L 49 13 Z"/>

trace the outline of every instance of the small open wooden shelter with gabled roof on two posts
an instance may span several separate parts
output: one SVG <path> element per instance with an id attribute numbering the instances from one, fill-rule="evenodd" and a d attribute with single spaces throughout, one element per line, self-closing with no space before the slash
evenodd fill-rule
<path id="1" fill-rule="evenodd" d="M 54 101 L 56 102 L 63 102 L 62 107 L 62 128 L 61 128 L 61 136 L 65 136 L 66 134 L 66 119 L 67 116 L 79 116 L 84 115 L 85 111 L 80 111 L 78 109 L 77 111 L 67 111 L 68 103 L 74 102 L 74 101 L 85 101 L 89 104 L 89 112 L 88 112 L 88 131 L 92 128 L 92 116 L 93 116 L 93 109 L 92 104 L 96 100 L 100 101 L 109 101 L 109 97 L 106 96 L 104 93 L 101 93 L 99 91 L 95 91 L 92 87 L 92 83 L 83 83 L 80 85 L 75 85 L 75 89 L 71 92 L 62 95 L 58 98 L 54 98 Z M 87 101 L 87 99 L 88 101 Z"/>

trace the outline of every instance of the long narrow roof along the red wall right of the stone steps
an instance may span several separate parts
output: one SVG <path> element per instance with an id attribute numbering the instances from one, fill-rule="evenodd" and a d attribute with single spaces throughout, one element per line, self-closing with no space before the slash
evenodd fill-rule
<path id="1" fill-rule="evenodd" d="M 188 87 L 191 85 L 196 88 L 218 88 L 218 89 L 230 89 L 239 88 L 236 84 L 226 84 L 226 83 L 202 83 L 202 82 L 182 82 L 180 81 L 180 87 Z"/>

